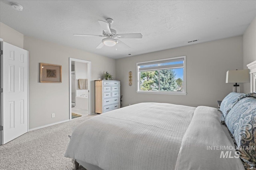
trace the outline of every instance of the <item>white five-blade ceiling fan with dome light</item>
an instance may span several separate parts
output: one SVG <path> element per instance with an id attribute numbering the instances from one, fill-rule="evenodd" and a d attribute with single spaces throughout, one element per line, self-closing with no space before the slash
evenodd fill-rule
<path id="1" fill-rule="evenodd" d="M 106 22 L 107 21 L 107 22 Z M 142 38 L 141 33 L 128 33 L 128 34 L 116 34 L 116 30 L 110 28 L 110 25 L 113 23 L 111 18 L 106 19 L 106 21 L 98 20 L 100 26 L 103 28 L 102 35 L 87 35 L 87 34 L 74 34 L 75 36 L 87 36 L 87 37 L 106 37 L 102 39 L 102 42 L 96 47 L 96 49 L 102 48 L 104 45 L 113 47 L 117 43 L 123 43 L 119 39 L 116 38 Z M 125 43 L 123 43 L 126 45 Z M 126 45 L 129 47 L 128 45 Z"/>

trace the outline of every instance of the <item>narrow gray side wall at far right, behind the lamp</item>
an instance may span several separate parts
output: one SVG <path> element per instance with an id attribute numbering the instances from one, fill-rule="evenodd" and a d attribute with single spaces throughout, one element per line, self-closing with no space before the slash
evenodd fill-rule
<path id="1" fill-rule="evenodd" d="M 256 17 L 246 29 L 243 35 L 244 69 L 247 64 L 256 61 Z M 250 83 L 244 84 L 244 93 L 250 93 Z"/>

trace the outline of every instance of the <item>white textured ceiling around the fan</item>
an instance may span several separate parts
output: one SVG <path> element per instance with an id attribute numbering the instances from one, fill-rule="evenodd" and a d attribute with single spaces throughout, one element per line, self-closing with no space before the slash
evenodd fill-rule
<path id="1" fill-rule="evenodd" d="M 22 12 L 10 2 L 21 4 Z M 198 42 L 242 35 L 256 16 L 256 1 L 152 0 L 1 0 L 0 21 L 24 35 L 68 45 L 114 59 Z M 142 39 L 96 49 L 102 37 L 97 20 L 112 18 L 117 33 L 142 33 Z M 116 50 L 117 49 L 117 50 Z M 128 55 L 131 54 L 131 55 Z"/>

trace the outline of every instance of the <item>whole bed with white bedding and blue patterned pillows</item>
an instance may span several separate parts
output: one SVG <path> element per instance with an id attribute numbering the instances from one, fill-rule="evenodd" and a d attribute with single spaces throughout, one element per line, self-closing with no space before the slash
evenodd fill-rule
<path id="1" fill-rule="evenodd" d="M 78 125 L 65 156 L 87 170 L 256 169 L 256 93 L 228 94 L 220 110 L 140 103 Z"/>

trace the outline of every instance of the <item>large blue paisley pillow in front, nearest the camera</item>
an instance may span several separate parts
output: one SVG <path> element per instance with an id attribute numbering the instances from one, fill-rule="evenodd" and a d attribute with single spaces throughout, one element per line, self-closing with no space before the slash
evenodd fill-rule
<path id="1" fill-rule="evenodd" d="M 240 158 L 248 169 L 256 169 L 256 98 L 247 96 L 239 100 L 225 122 L 236 140 Z"/>

